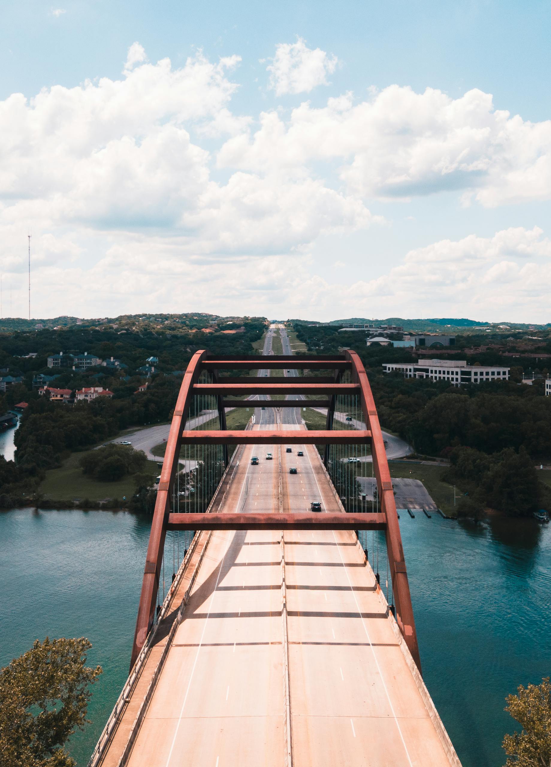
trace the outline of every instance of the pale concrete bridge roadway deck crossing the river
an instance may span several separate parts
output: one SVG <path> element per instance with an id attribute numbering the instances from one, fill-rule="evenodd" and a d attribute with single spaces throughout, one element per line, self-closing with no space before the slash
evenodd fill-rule
<path id="1" fill-rule="evenodd" d="M 220 511 L 341 510 L 292 450 L 246 447 Z M 459 765 L 354 533 L 213 532 L 183 618 L 125 764 Z"/>

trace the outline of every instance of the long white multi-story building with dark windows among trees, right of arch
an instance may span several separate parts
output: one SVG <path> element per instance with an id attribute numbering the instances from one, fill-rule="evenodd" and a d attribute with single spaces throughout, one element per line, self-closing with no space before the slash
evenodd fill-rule
<path id="1" fill-rule="evenodd" d="M 426 360 L 424 362 L 388 362 L 385 373 L 399 370 L 406 378 L 431 378 L 450 384 L 483 384 L 485 381 L 509 380 L 509 367 L 467 365 L 467 360 Z"/>

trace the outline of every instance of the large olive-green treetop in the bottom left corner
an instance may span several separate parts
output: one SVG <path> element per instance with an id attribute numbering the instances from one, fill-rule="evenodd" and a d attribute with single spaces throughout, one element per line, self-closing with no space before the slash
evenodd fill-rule
<path id="1" fill-rule="evenodd" d="M 35 641 L 0 670 L 0 767 L 72 767 L 64 743 L 87 722 L 89 686 L 101 667 L 87 668 L 90 642 Z"/>

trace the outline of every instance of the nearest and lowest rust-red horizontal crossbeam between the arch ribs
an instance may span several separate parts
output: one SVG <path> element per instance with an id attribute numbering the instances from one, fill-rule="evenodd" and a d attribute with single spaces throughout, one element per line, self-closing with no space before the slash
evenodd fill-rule
<path id="1" fill-rule="evenodd" d="M 170 514 L 169 530 L 384 530 L 385 515 L 325 514 Z"/>

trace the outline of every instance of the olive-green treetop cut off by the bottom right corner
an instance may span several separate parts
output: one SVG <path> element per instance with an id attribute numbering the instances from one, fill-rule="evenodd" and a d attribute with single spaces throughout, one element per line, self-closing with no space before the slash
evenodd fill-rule
<path id="1" fill-rule="evenodd" d="M 549 767 L 551 765 L 551 684 L 549 676 L 541 684 L 520 685 L 517 695 L 506 698 L 505 710 L 522 726 L 503 738 L 506 767 Z"/>

